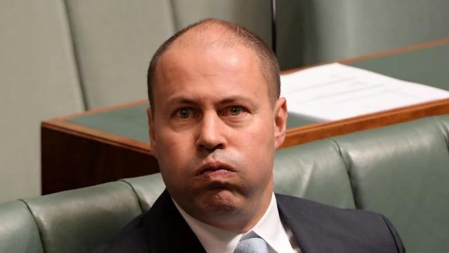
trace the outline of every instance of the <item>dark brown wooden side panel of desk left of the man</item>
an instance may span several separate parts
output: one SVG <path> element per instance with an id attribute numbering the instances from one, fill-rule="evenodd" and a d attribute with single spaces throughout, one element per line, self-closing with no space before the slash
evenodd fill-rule
<path id="1" fill-rule="evenodd" d="M 159 171 L 149 150 L 130 147 L 132 142 L 120 144 L 46 122 L 41 139 L 42 194 Z"/>

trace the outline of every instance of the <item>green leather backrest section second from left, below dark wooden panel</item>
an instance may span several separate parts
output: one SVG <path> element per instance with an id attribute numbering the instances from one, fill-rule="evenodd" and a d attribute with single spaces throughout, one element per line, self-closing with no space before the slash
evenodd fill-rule
<path id="1" fill-rule="evenodd" d="M 90 252 L 142 213 L 133 189 L 108 182 L 25 200 L 47 253 Z"/>

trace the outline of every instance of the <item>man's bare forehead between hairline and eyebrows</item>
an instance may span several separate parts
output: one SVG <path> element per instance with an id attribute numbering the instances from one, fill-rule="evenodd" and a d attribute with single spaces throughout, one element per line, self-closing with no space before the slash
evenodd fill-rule
<path id="1" fill-rule="evenodd" d="M 242 93 L 268 99 L 258 60 L 254 50 L 239 44 L 173 44 L 157 64 L 154 100 L 177 95 L 219 99 Z"/>

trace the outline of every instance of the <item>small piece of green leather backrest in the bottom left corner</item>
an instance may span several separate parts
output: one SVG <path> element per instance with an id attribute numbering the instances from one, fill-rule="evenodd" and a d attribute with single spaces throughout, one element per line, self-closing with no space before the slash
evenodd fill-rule
<path id="1" fill-rule="evenodd" d="M 44 252 L 35 219 L 19 200 L 0 204 L 0 252 Z"/>

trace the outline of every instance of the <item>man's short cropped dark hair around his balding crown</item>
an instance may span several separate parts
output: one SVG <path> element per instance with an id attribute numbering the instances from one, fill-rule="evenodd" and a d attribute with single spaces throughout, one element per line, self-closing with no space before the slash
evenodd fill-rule
<path id="1" fill-rule="evenodd" d="M 176 32 L 175 35 L 167 39 L 156 50 L 153 58 L 151 58 L 150 66 L 148 68 L 147 85 L 148 97 L 153 113 L 153 78 L 155 76 L 157 62 L 160 57 L 166 52 L 166 50 L 170 48 L 171 44 L 173 44 L 173 42 L 185 32 L 193 28 L 201 28 L 202 26 L 204 26 L 204 30 L 206 30 L 208 27 L 213 25 L 225 28 L 225 31 L 229 32 L 229 35 L 233 37 L 233 41 L 236 41 L 237 44 L 247 46 L 254 50 L 259 59 L 260 71 L 262 72 L 262 75 L 268 84 L 269 99 L 271 101 L 271 104 L 274 105 L 280 94 L 280 77 L 278 59 L 276 59 L 276 55 L 274 55 L 273 50 L 271 50 L 271 48 L 269 48 L 269 46 L 267 46 L 267 44 L 265 44 L 265 42 L 260 39 L 260 37 L 258 37 L 256 34 L 254 34 L 254 32 L 251 32 L 247 28 L 219 19 L 204 19 L 202 21 L 199 21 L 198 23 L 187 26 L 187 28 L 184 28 L 179 32 Z"/>

